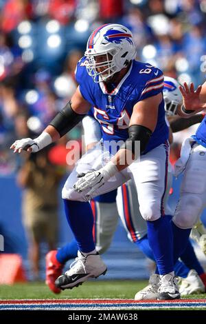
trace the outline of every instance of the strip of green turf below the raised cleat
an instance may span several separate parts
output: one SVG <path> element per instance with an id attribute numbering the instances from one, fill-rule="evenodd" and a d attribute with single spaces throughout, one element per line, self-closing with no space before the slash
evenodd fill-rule
<path id="1" fill-rule="evenodd" d="M 1 299 L 27 298 L 126 298 L 133 299 L 136 292 L 148 281 L 89 281 L 61 294 L 53 294 L 44 283 L 18 283 L 12 286 L 0 285 Z M 187 298 L 206 298 L 206 294 L 194 294 Z"/>

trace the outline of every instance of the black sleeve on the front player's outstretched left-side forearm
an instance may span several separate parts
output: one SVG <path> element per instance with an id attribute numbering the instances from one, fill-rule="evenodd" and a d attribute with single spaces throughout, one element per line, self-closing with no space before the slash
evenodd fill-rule
<path id="1" fill-rule="evenodd" d="M 84 117 L 84 114 L 77 114 L 71 108 L 71 101 L 65 105 L 65 107 L 58 112 L 58 114 L 52 119 L 49 125 L 52 125 L 60 136 L 64 136 L 71 130 L 74 126 L 76 126 Z"/>

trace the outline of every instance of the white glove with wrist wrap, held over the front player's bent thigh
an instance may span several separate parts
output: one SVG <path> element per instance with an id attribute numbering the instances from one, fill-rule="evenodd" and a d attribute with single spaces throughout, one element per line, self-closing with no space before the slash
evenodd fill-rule
<path id="1" fill-rule="evenodd" d="M 77 192 L 82 192 L 91 188 L 88 193 L 91 194 L 98 188 L 102 187 L 102 185 L 104 185 L 104 183 L 108 181 L 111 176 L 114 176 L 117 171 L 116 165 L 113 162 L 109 162 L 104 168 L 98 171 L 79 174 L 78 178 L 80 179 L 73 185 L 73 189 Z"/>

